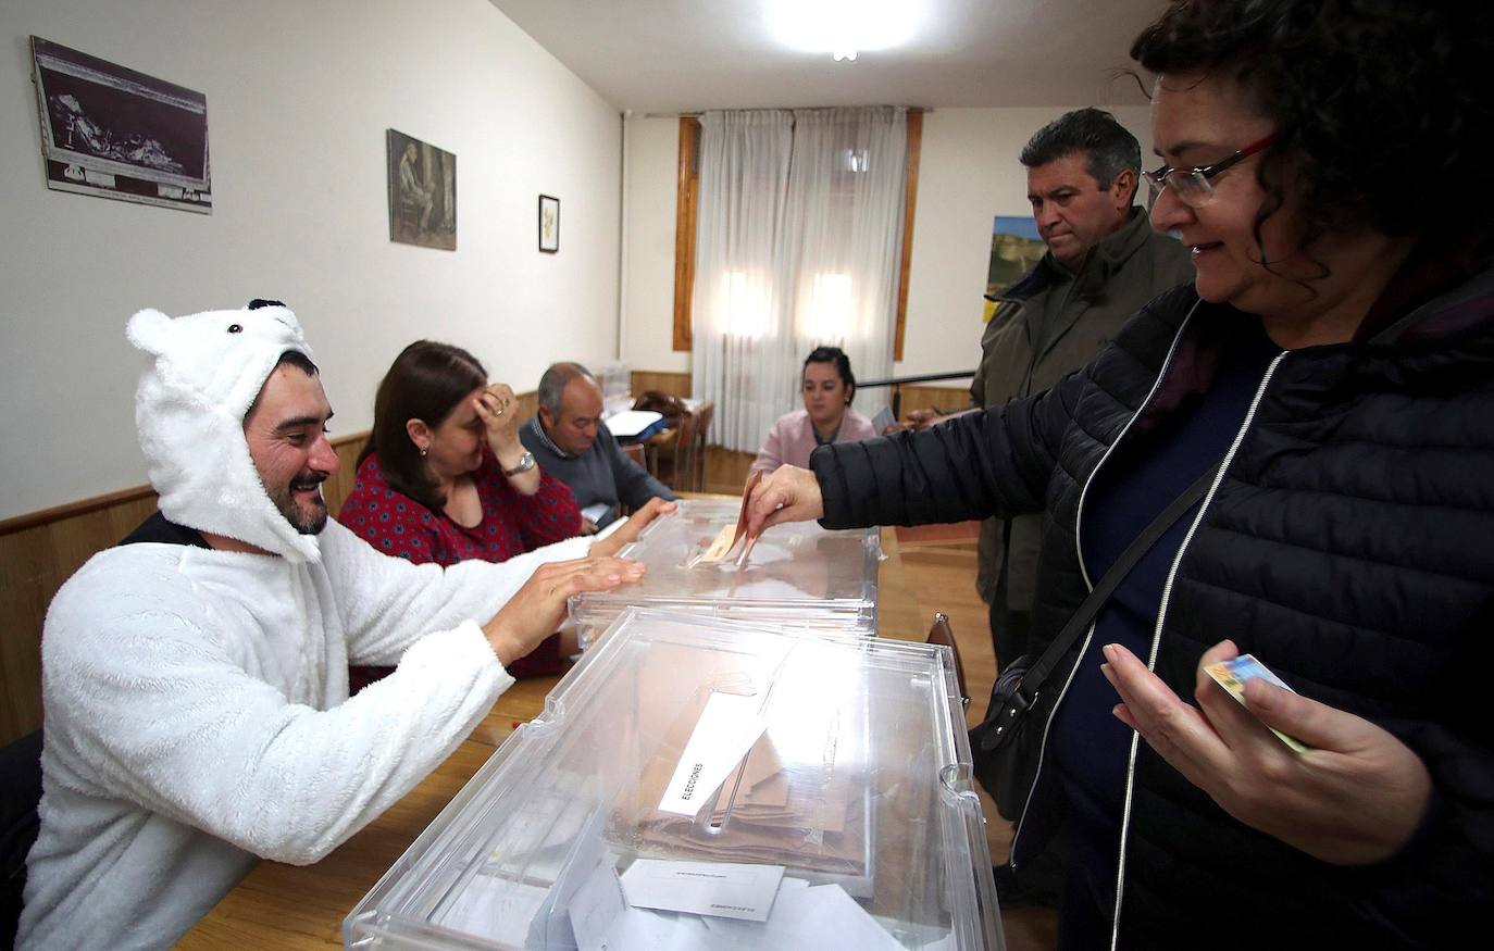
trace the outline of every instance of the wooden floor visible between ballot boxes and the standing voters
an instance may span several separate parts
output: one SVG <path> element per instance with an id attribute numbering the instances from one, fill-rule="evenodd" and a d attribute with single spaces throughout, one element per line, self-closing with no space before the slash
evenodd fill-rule
<path id="1" fill-rule="evenodd" d="M 925 618 L 935 611 L 949 615 L 965 664 L 970 691 L 967 724 L 974 726 L 986 715 L 991 685 L 996 678 L 996 661 L 991 649 L 991 627 L 986 605 L 976 594 L 977 523 L 965 523 L 965 530 L 923 531 L 898 530 L 904 579 L 916 593 Z M 996 806 L 982 790 L 986 811 L 986 841 L 992 861 L 1001 864 L 1011 846 L 1011 824 L 996 814 Z M 1058 921 L 1047 908 L 1017 908 L 1001 911 L 1007 933 L 1007 951 L 1047 951 L 1058 947 Z"/>

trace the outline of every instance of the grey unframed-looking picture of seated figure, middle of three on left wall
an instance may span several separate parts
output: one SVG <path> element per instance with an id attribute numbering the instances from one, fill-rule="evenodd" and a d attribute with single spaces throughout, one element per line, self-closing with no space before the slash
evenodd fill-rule
<path id="1" fill-rule="evenodd" d="M 457 249 L 457 157 L 388 130 L 388 239 Z"/>

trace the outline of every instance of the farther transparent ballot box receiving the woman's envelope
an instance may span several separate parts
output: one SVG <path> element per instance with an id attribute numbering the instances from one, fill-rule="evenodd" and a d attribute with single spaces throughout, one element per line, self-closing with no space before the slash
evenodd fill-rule
<path id="1" fill-rule="evenodd" d="M 716 617 L 786 623 L 825 630 L 877 630 L 877 528 L 831 531 L 814 523 L 774 526 L 747 561 L 698 563 L 723 527 L 735 526 L 741 502 L 686 499 L 619 552 L 648 567 L 638 584 L 571 599 L 583 643 L 629 605 Z"/>

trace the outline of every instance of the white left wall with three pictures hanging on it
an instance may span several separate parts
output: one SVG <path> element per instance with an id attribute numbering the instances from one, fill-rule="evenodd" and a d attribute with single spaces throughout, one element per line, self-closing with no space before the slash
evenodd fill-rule
<path id="1" fill-rule="evenodd" d="M 48 191 L 30 34 L 205 93 L 212 215 Z M 0 518 L 145 482 L 139 308 L 285 300 L 342 433 L 421 336 L 517 390 L 616 354 L 617 110 L 487 0 L 6 0 L 0 43 Z M 457 155 L 456 252 L 388 240 L 388 127 Z"/>

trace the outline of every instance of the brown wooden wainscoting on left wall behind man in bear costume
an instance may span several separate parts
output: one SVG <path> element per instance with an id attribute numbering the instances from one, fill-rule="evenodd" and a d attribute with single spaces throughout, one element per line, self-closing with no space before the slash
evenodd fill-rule
<path id="1" fill-rule="evenodd" d="M 353 491 L 353 463 L 366 439 L 365 431 L 332 440 L 342 466 L 323 494 L 333 514 Z M 6 620 L 0 630 L 0 745 L 42 726 L 42 623 L 57 588 L 152 512 L 155 491 L 139 485 L 0 521 L 0 617 Z"/>

